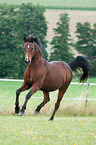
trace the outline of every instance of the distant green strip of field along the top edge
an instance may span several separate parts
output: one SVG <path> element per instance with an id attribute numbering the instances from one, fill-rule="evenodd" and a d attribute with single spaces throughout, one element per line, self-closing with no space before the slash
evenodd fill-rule
<path id="1" fill-rule="evenodd" d="M 88 9 L 96 8 L 96 0 L 0 0 L 0 3 L 21 4 L 31 2 L 34 5 L 40 4 L 47 8 L 68 8 L 68 9 Z"/>

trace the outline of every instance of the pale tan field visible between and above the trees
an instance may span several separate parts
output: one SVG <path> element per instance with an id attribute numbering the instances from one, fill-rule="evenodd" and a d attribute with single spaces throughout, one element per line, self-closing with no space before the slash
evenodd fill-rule
<path id="1" fill-rule="evenodd" d="M 59 21 L 59 15 L 61 13 L 68 13 L 68 16 L 70 18 L 69 21 L 69 29 L 70 29 L 70 34 L 71 34 L 71 39 L 73 43 L 77 41 L 76 38 L 76 23 L 77 22 L 89 22 L 91 27 L 93 28 L 93 24 L 96 23 L 96 11 L 81 11 L 81 10 L 49 10 L 46 9 L 46 12 L 44 13 L 46 21 L 48 22 L 48 31 L 47 31 L 47 36 L 46 39 L 50 42 L 52 41 L 52 38 L 54 37 L 54 31 L 53 28 L 56 28 L 57 25 L 56 23 Z M 46 50 L 50 54 L 50 48 L 52 46 L 48 44 L 48 47 Z M 78 55 L 77 51 L 72 49 L 73 53 L 75 56 Z"/>

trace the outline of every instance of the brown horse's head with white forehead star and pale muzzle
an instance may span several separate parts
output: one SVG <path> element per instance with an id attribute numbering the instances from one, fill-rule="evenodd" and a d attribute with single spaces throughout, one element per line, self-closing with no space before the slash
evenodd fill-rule
<path id="1" fill-rule="evenodd" d="M 34 42 L 33 42 L 33 37 L 31 37 L 30 42 L 27 41 L 27 38 L 24 37 L 24 53 L 25 53 L 25 64 L 30 65 L 31 60 L 34 56 Z"/>

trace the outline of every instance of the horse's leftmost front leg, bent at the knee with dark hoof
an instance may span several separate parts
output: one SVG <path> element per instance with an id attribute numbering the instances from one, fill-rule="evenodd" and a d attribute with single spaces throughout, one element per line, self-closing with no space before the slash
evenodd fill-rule
<path id="1" fill-rule="evenodd" d="M 15 113 L 19 113 L 20 107 L 19 107 L 19 95 L 21 92 L 29 89 L 30 87 L 28 86 L 28 84 L 26 84 L 25 82 L 23 82 L 21 88 L 19 88 L 16 91 L 16 101 L 15 101 Z"/>

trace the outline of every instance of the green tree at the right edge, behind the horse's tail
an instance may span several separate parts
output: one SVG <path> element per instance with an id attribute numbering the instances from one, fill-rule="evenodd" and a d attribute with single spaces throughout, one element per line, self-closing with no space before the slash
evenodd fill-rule
<path id="1" fill-rule="evenodd" d="M 91 75 L 96 75 L 96 24 L 91 25 L 89 22 L 77 23 L 77 42 L 75 48 L 77 51 L 89 58 L 92 64 Z"/>

